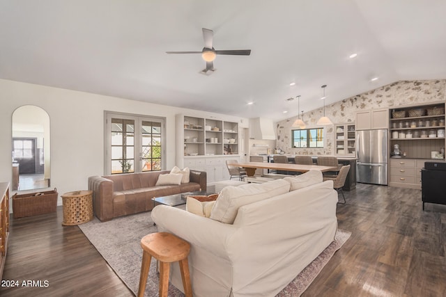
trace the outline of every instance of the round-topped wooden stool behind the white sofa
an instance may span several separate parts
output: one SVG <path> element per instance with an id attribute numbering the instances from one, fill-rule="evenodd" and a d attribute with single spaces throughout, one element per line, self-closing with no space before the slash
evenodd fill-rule
<path id="1" fill-rule="evenodd" d="M 144 296 L 144 291 L 146 291 L 148 268 L 151 266 L 152 257 L 160 262 L 160 297 L 167 297 L 170 263 L 176 261 L 180 264 L 185 295 L 186 297 L 192 297 L 189 265 L 187 264 L 187 255 L 190 252 L 189 243 L 174 234 L 157 232 L 144 236 L 141 239 L 141 248 L 143 254 L 138 297 Z"/>

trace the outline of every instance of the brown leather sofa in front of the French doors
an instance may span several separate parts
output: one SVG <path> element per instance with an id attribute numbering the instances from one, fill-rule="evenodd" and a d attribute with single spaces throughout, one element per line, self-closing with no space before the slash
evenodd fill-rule
<path id="1" fill-rule="evenodd" d="M 190 191 L 206 191 L 206 172 L 190 170 L 190 182 L 155 186 L 158 176 L 169 170 L 89 177 L 93 191 L 93 210 L 102 222 L 117 216 L 153 209 L 152 198 Z"/>

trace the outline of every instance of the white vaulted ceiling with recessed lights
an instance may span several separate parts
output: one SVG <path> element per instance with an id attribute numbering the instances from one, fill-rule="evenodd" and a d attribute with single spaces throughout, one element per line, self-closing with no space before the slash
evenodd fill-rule
<path id="1" fill-rule="evenodd" d="M 445 79 L 445 15 L 445 0 L 0 0 L 0 79 L 277 121 L 298 114 L 289 97 L 323 106 L 323 84 L 330 104 Z M 251 56 L 206 76 L 199 54 L 165 54 L 201 51 L 203 27 Z"/>

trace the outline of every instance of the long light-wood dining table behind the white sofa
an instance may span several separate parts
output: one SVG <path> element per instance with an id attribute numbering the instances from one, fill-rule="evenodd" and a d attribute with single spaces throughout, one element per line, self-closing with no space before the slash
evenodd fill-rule
<path id="1" fill-rule="evenodd" d="M 257 168 L 272 169 L 272 170 L 286 170 L 295 172 L 307 172 L 309 170 L 319 170 L 321 172 L 337 171 L 337 167 L 319 166 L 319 165 L 301 165 L 294 163 L 267 163 L 267 162 L 241 162 L 228 163 L 228 166 L 243 167 L 246 170 L 248 177 L 254 176 Z"/>

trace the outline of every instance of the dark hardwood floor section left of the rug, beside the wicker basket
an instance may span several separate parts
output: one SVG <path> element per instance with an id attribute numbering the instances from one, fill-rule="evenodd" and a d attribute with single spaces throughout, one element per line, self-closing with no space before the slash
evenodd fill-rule
<path id="1" fill-rule="evenodd" d="M 0 296 L 133 296 L 79 227 L 62 226 L 62 220 L 62 207 L 52 214 L 11 216 Z M 42 283 L 22 286 L 28 280 Z"/>

